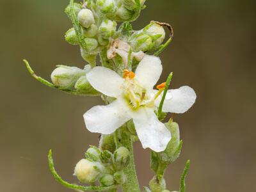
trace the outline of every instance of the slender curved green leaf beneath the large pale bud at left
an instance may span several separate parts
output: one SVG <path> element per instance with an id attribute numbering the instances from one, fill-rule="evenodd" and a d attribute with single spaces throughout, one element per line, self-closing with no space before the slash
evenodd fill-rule
<path id="1" fill-rule="evenodd" d="M 30 67 L 29 63 L 27 60 L 23 60 L 23 62 L 25 63 L 29 74 L 31 74 L 32 77 L 34 77 L 37 81 L 39 81 L 42 84 L 45 84 L 46 86 L 49 86 L 51 88 L 54 88 L 56 90 L 61 90 L 62 92 L 66 92 L 72 95 L 79 95 L 79 96 L 93 96 L 93 95 L 87 95 L 86 93 L 83 92 L 76 92 L 73 90 L 63 90 L 61 88 L 58 88 L 57 86 L 55 86 L 54 84 L 50 83 L 49 81 L 43 79 L 42 77 L 36 76 L 35 72 L 33 71 L 33 69 Z"/>

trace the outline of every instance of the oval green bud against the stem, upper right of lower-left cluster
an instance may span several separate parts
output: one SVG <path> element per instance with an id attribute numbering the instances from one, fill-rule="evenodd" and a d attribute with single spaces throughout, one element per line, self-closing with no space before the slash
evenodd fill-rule
<path id="1" fill-rule="evenodd" d="M 114 154 L 114 164 L 117 169 L 122 169 L 128 165 L 130 159 L 130 152 L 125 147 L 119 147 Z"/>

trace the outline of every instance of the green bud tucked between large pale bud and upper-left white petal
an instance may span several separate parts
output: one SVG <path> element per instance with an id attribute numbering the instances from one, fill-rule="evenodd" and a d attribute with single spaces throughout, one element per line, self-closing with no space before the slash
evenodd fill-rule
<path id="1" fill-rule="evenodd" d="M 91 95 L 91 96 L 100 95 L 100 93 L 97 90 L 95 90 L 92 87 L 92 85 L 89 83 L 86 76 L 82 76 L 77 80 L 75 84 L 75 88 L 77 92 L 85 93 L 86 95 Z"/>

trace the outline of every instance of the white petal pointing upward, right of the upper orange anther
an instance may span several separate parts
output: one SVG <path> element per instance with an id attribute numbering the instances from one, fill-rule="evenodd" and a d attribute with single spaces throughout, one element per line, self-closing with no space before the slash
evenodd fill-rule
<path id="1" fill-rule="evenodd" d="M 156 56 L 145 55 L 136 68 L 135 78 L 145 87 L 152 88 L 163 71 L 161 60 Z"/>

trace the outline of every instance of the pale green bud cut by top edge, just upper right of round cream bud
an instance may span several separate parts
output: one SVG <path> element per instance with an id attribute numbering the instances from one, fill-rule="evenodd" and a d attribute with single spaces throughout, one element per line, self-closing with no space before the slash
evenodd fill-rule
<path id="1" fill-rule="evenodd" d="M 115 16 L 117 10 L 115 0 L 98 0 L 97 7 L 102 13 L 108 15 L 108 17 Z"/>

